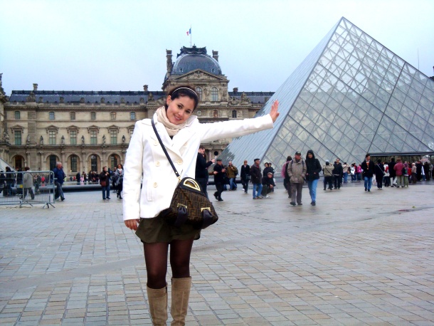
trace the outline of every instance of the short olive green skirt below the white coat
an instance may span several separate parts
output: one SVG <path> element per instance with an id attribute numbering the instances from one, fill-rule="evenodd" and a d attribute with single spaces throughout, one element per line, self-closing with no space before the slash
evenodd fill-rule
<path id="1" fill-rule="evenodd" d="M 183 225 L 179 228 L 171 226 L 160 217 L 152 219 L 140 219 L 136 235 L 143 243 L 170 243 L 172 240 L 198 240 L 201 237 L 201 230 L 196 230 L 191 225 Z"/>

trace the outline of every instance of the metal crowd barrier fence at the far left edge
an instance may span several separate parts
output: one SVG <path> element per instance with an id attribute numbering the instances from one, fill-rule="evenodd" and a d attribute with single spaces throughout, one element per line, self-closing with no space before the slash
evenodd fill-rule
<path id="1" fill-rule="evenodd" d="M 54 204 L 53 171 L 0 172 L 0 205 Z M 53 206 L 54 207 L 54 206 Z"/>

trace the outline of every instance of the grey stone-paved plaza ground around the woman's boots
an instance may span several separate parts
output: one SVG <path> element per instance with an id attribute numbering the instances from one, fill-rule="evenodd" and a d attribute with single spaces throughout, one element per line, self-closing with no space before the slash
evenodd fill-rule
<path id="1" fill-rule="evenodd" d="M 434 183 L 321 186 L 317 206 L 308 189 L 294 207 L 282 186 L 223 192 L 194 243 L 186 325 L 434 325 Z M 151 325 L 120 200 L 3 206 L 0 227 L 0 325 Z"/>

